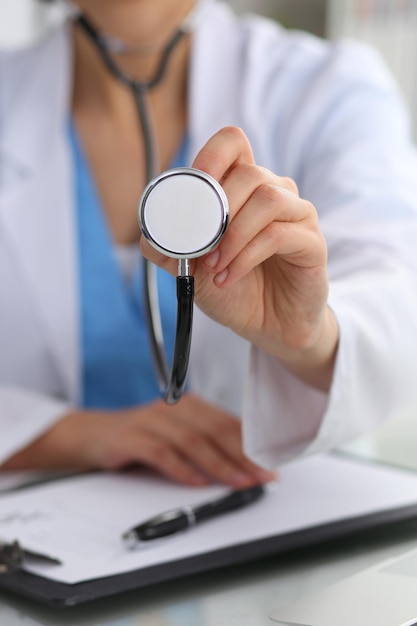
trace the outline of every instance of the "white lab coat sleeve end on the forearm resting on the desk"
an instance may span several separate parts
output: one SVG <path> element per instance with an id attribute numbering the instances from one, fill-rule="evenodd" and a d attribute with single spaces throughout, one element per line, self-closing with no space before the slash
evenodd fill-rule
<path id="1" fill-rule="evenodd" d="M 0 463 L 47 431 L 70 404 L 36 391 L 0 387 Z"/>

